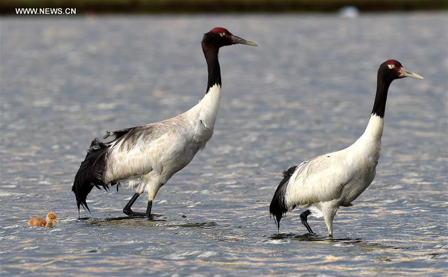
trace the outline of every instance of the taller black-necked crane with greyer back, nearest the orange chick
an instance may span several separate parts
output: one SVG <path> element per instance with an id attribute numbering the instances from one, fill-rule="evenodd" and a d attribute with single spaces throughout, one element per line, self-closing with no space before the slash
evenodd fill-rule
<path id="1" fill-rule="evenodd" d="M 103 138 L 111 137 L 108 142 L 92 141 L 72 187 L 78 211 L 80 205 L 89 210 L 86 199 L 94 186 L 108 189 L 109 185 L 117 185 L 118 189 L 123 183 L 135 191 L 123 212 L 150 217 L 159 189 L 212 138 L 221 100 L 218 52 L 222 46 L 237 43 L 257 46 L 220 27 L 204 34 L 202 50 L 207 61 L 208 82 L 206 95 L 199 104 L 165 121 L 108 132 Z M 131 206 L 143 192 L 148 193 L 146 212 L 133 212 Z"/>

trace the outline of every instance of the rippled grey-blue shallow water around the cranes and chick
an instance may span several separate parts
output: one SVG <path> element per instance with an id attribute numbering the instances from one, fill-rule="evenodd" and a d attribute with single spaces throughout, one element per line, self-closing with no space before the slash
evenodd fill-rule
<path id="1" fill-rule="evenodd" d="M 1 275 L 447 275 L 447 16 L 3 17 Z M 70 191 L 106 130 L 173 117 L 206 89 L 202 33 L 260 47 L 221 50 L 214 137 L 158 193 Z M 376 70 L 397 59 L 425 80 L 391 85 L 377 175 L 327 238 L 300 210 L 280 232 L 268 206 L 281 171 L 362 134 Z M 145 209 L 142 196 L 134 210 Z M 26 225 L 54 211 L 52 229 Z"/>

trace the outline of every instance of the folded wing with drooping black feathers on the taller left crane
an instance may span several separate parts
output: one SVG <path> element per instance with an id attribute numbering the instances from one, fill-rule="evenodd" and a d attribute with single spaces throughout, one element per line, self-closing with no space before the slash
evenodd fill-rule
<path id="1" fill-rule="evenodd" d="M 153 168 L 161 171 L 160 161 L 151 159 L 151 148 L 170 131 L 170 126 L 153 123 L 107 133 L 111 141 L 94 139 L 75 175 L 72 191 L 75 193 L 78 210 L 87 206 L 87 195 L 96 186 L 109 188 L 118 180 L 150 172 Z M 167 144 L 167 141 L 161 144 Z M 138 146 L 138 147 L 136 147 Z M 159 147 L 159 145 L 157 145 Z M 89 210 L 90 211 L 90 210 Z"/>

